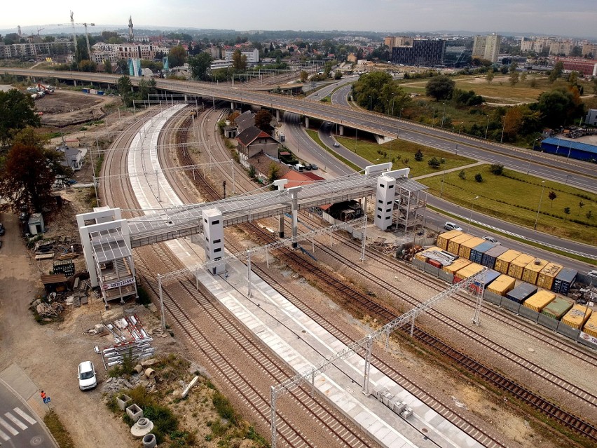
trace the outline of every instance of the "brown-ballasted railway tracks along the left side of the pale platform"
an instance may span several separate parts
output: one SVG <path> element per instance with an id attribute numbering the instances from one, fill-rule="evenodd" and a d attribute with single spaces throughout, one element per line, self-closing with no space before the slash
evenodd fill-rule
<path id="1" fill-rule="evenodd" d="M 123 135 L 119 143 L 132 140 L 134 130 Z M 107 158 L 107 163 L 104 165 L 107 169 L 123 169 L 127 165 L 124 161 L 125 156 L 111 156 Z M 134 201 L 132 187 L 130 182 L 126 182 L 123 177 L 119 178 L 118 184 L 106 184 L 102 187 L 104 197 L 111 201 L 122 201 L 121 204 L 130 209 L 138 208 L 138 203 Z M 157 285 L 155 280 L 156 269 L 159 266 L 160 271 L 169 272 L 179 269 L 181 266 L 175 262 L 170 250 L 163 247 L 162 244 L 151 245 L 150 247 L 143 247 L 139 250 L 142 252 L 141 257 L 135 257 L 135 264 L 139 266 L 139 272 L 143 274 L 144 283 L 154 294 L 157 295 Z M 220 376 L 220 378 L 233 388 L 235 394 L 241 398 L 242 402 L 251 409 L 253 414 L 264 424 L 269 424 L 270 417 L 270 397 L 269 386 L 271 383 L 283 381 L 293 374 L 282 367 L 281 363 L 273 355 L 264 351 L 259 344 L 259 341 L 252 341 L 252 338 L 243 330 L 238 323 L 235 323 L 233 318 L 226 316 L 225 313 L 219 311 L 216 306 L 212 305 L 212 301 L 207 293 L 203 292 L 200 297 L 193 285 L 187 280 L 183 280 L 172 285 L 164 287 L 165 293 L 165 308 L 167 314 L 176 323 L 177 327 L 188 339 L 189 343 L 200 350 L 205 359 L 210 363 L 212 369 Z M 187 310 L 196 309 L 200 305 L 202 311 L 205 311 L 210 316 L 210 322 L 214 323 L 211 334 L 217 334 L 217 337 L 210 336 L 210 332 L 205 330 L 205 327 L 198 325 L 195 322 L 195 317 Z M 260 374 L 265 374 L 267 379 L 261 379 L 261 383 L 267 386 L 259 390 L 254 383 L 257 383 L 252 376 L 247 376 L 245 372 L 246 365 L 244 362 L 239 365 L 231 362 L 230 359 L 235 359 L 229 353 L 224 353 L 221 349 L 221 341 L 213 339 L 221 339 L 226 335 L 225 346 L 230 345 L 233 341 L 237 351 L 245 353 L 249 357 L 249 362 L 257 366 Z M 335 446 L 341 447 L 374 447 L 376 444 L 368 440 L 360 430 L 354 428 L 350 421 L 347 421 L 343 416 L 336 416 L 336 412 L 330 409 L 326 403 L 320 403 L 310 398 L 310 394 L 299 388 L 293 391 L 293 396 L 296 402 L 302 407 L 304 415 L 308 412 L 313 412 L 315 420 L 319 423 L 317 428 L 310 428 L 312 432 L 318 434 L 317 440 L 324 440 L 322 437 L 331 437 L 334 440 Z M 315 447 L 316 442 L 310 440 L 304 434 L 304 431 L 296 428 L 293 420 L 296 420 L 296 414 L 291 413 L 287 415 L 284 412 L 284 407 L 280 407 L 278 416 L 278 434 L 281 437 L 279 442 L 288 447 Z M 303 425 L 304 426 L 304 425 Z M 321 434 L 322 432 L 326 434 Z"/>

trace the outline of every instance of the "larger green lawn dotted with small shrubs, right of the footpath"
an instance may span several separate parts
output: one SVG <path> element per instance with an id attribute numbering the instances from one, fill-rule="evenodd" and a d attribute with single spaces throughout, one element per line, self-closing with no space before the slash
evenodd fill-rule
<path id="1" fill-rule="evenodd" d="M 504 175 L 496 176 L 490 172 L 490 165 L 479 165 L 465 171 L 466 179 L 460 179 L 459 172 L 420 179 L 419 182 L 430 187 L 430 193 L 446 201 L 457 203 L 466 208 L 491 215 L 509 222 L 533 227 L 537 217 L 537 207 L 542 196 L 542 179 L 519 172 L 504 170 Z M 480 172 L 483 182 L 474 180 Z M 549 193 L 556 198 L 551 201 Z M 479 196 L 474 200 L 475 196 Z M 582 202 L 582 207 L 579 203 Z M 564 209 L 570 208 L 569 214 Z M 587 214 L 589 217 L 587 217 Z M 537 231 L 583 243 L 597 245 L 597 195 L 587 193 L 571 186 L 545 181 L 541 201 Z"/>

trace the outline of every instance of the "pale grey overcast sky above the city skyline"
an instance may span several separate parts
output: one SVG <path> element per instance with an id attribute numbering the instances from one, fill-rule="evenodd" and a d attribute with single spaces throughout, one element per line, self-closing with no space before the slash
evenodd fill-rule
<path id="1" fill-rule="evenodd" d="M 46 24 L 75 22 L 135 28 L 467 30 L 597 37 L 594 0 L 53 0 L 43 7 L 6 0 L 0 29 L 37 32 Z M 34 2 L 35 4 L 36 2 Z M 99 26 L 98 26 L 99 25 Z M 43 34 L 43 31 L 41 32 Z"/>

